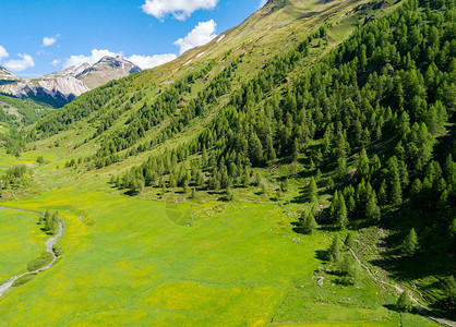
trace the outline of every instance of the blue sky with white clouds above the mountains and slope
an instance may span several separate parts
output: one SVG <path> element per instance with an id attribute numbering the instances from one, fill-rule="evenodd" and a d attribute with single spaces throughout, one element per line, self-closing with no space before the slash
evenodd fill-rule
<path id="1" fill-rule="evenodd" d="M 0 65 L 36 77 L 120 55 L 143 69 L 240 24 L 264 0 L 0 0 Z"/>

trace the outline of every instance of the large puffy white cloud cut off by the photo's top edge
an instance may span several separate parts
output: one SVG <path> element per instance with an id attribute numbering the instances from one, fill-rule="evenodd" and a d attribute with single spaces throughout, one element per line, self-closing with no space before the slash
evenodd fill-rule
<path id="1" fill-rule="evenodd" d="M 172 14 L 177 20 L 184 21 L 196 10 L 214 9 L 217 2 L 218 0 L 146 0 L 142 9 L 158 20 Z"/>

